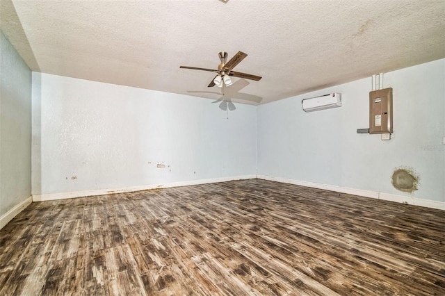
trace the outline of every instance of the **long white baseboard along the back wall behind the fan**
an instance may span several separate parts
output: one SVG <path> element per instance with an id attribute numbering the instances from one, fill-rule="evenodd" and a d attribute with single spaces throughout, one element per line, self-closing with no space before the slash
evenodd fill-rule
<path id="1" fill-rule="evenodd" d="M 60 192 L 60 193 L 49 193 L 42 195 L 33 195 L 33 202 L 44 202 L 48 200 L 56 200 L 56 199 L 69 199 L 75 197 L 89 197 L 96 195 L 110 195 L 113 193 L 124 193 L 124 192 L 134 192 L 141 190 L 151 190 L 156 188 L 171 188 L 171 187 L 180 187 L 180 186 L 191 186 L 191 185 L 199 185 L 199 184 L 207 184 L 207 183 L 218 183 L 218 182 L 227 182 L 234 180 L 245 180 L 245 179 L 255 179 L 257 175 L 245 175 L 245 176 L 227 176 L 222 178 L 214 178 L 214 179 L 200 179 L 200 180 L 191 180 L 191 181 L 181 181 L 181 182 L 172 182 L 167 184 L 149 184 L 145 186 L 133 186 L 127 188 L 113 188 L 113 189 L 98 189 L 98 190 L 84 190 L 84 191 L 74 191 L 74 192 Z"/>

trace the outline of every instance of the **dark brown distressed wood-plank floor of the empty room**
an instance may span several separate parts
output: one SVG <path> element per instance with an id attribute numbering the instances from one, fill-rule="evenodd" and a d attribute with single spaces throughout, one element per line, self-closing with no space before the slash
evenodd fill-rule
<path id="1" fill-rule="evenodd" d="M 33 203 L 0 295 L 445 295 L 445 211 L 259 179 Z"/>

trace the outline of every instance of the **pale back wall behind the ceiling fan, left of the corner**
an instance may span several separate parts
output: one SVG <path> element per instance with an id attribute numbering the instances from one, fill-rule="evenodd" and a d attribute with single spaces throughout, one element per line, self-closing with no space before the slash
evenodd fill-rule
<path id="1" fill-rule="evenodd" d="M 209 99 L 33 72 L 33 195 L 252 177 L 256 108 L 228 115 Z"/>

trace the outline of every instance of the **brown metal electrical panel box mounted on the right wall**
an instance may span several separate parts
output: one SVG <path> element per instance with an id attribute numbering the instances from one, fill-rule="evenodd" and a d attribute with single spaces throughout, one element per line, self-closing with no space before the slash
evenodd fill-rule
<path id="1" fill-rule="evenodd" d="M 392 132 L 392 88 L 369 92 L 369 133 Z"/>

